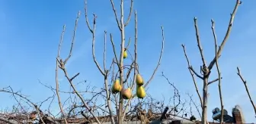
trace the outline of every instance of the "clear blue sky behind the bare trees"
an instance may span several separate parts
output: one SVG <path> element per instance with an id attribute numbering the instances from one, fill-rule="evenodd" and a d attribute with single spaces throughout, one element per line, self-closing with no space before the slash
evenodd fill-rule
<path id="1" fill-rule="evenodd" d="M 114 2 L 118 10 L 119 2 Z M 252 16 L 256 14 L 255 4 L 254 1 L 246 1 L 238 8 L 230 39 L 219 60 L 223 77 L 222 89 L 225 107 L 230 113 L 235 104 L 241 105 L 247 122 L 255 122 L 254 111 L 244 85 L 236 75 L 236 67 L 241 67 L 243 76 L 248 80 L 251 95 L 256 101 L 256 90 L 254 89 L 256 85 L 253 82 L 255 80 L 253 70 L 256 70 L 256 66 L 254 66 L 256 59 L 253 55 L 256 46 L 254 43 L 256 36 L 253 35 L 256 31 L 256 25 L 254 25 L 256 18 Z M 126 16 L 129 5 L 130 3 L 127 1 Z M 173 93 L 165 79 L 162 79 L 161 72 L 164 71 L 165 76 L 168 76 L 168 79 L 174 82 L 183 94 L 190 92 L 196 98 L 181 44 L 186 45 L 191 64 L 199 70 L 201 60 L 197 49 L 193 20 L 193 17 L 196 16 L 203 51 L 209 64 L 214 56 L 210 20 L 212 18 L 215 20 L 217 39 L 219 42 L 222 41 L 229 22 L 229 14 L 234 5 L 235 0 L 210 0 L 207 2 L 162 0 L 157 3 L 141 0 L 134 3 L 134 8 L 138 13 L 138 59 L 141 65 L 139 69 L 145 79 L 149 79 L 158 61 L 162 39 L 160 26 L 165 28 L 165 52 L 162 65 L 159 67 L 155 79 L 149 85 L 149 94 L 155 98 L 162 98 L 162 95 L 168 97 Z M 30 95 L 30 99 L 33 101 L 41 101 L 52 95 L 50 90 L 38 83 L 38 79 L 43 83 L 55 86 L 55 57 L 62 25 L 66 24 L 62 48 L 62 57 L 66 57 L 78 11 L 82 11 L 82 14 L 78 21 L 73 56 L 67 68 L 70 75 L 81 73 L 75 81 L 86 79 L 91 85 L 103 86 L 103 79 L 98 78 L 101 73 L 94 65 L 91 56 L 91 34 L 85 24 L 83 0 L 2 0 L 0 1 L 0 53 L 2 56 L 0 87 L 11 85 L 14 90 L 21 90 L 23 94 Z M 91 20 L 92 12 L 98 15 L 95 52 L 98 61 L 102 64 L 104 30 L 107 30 L 107 33 L 114 33 L 116 46 L 120 46 L 120 37 L 109 1 L 88 0 L 88 14 Z M 132 18 L 130 26 L 126 28 L 126 39 L 134 36 L 133 22 Z M 110 65 L 110 60 L 113 57 L 110 41 L 108 41 L 107 50 L 109 53 L 107 54 L 107 64 Z M 216 77 L 213 70 L 211 79 Z M 60 78 L 64 79 L 63 76 Z M 202 91 L 202 82 L 197 80 L 200 91 Z M 62 90 L 68 90 L 68 86 L 69 84 L 65 80 L 61 80 L 60 88 Z M 211 110 L 214 107 L 219 107 L 217 90 L 217 83 L 210 85 L 209 119 L 212 115 Z M 7 94 L 0 96 L 5 99 L 4 102 L 1 102 L 0 107 L 7 107 L 13 101 Z"/>

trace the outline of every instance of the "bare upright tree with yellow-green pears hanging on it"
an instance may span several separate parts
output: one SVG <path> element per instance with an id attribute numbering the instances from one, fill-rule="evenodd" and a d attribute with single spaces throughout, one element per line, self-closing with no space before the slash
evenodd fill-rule
<path id="1" fill-rule="evenodd" d="M 116 18 L 116 22 L 117 22 L 117 27 L 120 30 L 120 52 L 118 54 L 118 52 L 116 51 L 116 46 L 114 45 L 114 39 L 113 39 L 113 34 L 110 33 L 110 42 L 114 51 L 114 60 L 113 60 L 113 64 L 111 65 L 117 65 L 117 73 L 118 73 L 118 79 L 120 82 L 120 86 L 122 89 L 122 91 L 119 92 L 119 97 L 118 97 L 118 107 L 117 107 L 117 121 L 118 123 L 122 123 L 123 119 L 126 116 L 126 111 L 127 111 L 127 107 L 129 107 L 129 104 L 131 102 L 131 100 L 133 98 L 136 97 L 136 95 L 133 95 L 132 98 L 130 98 L 129 100 L 127 100 L 126 105 L 124 104 L 124 99 L 122 97 L 122 92 L 124 90 L 124 84 L 128 83 L 128 80 L 131 78 L 133 83 L 131 83 L 130 85 L 128 85 L 128 88 L 130 88 L 133 91 L 133 88 L 135 88 L 135 84 L 136 84 L 136 75 L 139 73 L 139 68 L 138 68 L 138 64 L 137 64 L 137 14 L 136 11 L 134 11 L 134 16 L 135 16 L 135 35 L 134 35 L 134 54 L 132 57 L 132 64 L 126 66 L 123 64 L 123 60 L 124 60 L 124 54 L 126 51 L 129 51 L 128 47 L 130 45 L 131 42 L 131 38 L 129 39 L 129 42 L 126 45 L 126 39 L 125 39 L 125 27 L 128 26 L 132 13 L 133 13 L 133 0 L 130 0 L 130 12 L 129 15 L 127 17 L 127 20 L 124 20 L 124 10 L 123 10 L 123 6 L 124 6 L 124 2 L 123 0 L 120 1 L 120 19 L 118 19 L 119 17 L 117 16 L 117 11 L 115 9 L 115 5 L 113 0 L 110 0 L 110 3 L 112 5 L 113 11 L 114 11 L 114 15 Z M 114 117 L 113 117 L 113 113 L 112 113 L 112 105 L 110 102 L 110 88 L 108 88 L 108 75 L 110 73 L 109 70 L 107 70 L 106 68 L 106 43 L 107 43 L 107 31 L 104 31 L 104 68 L 102 69 L 101 66 L 98 64 L 98 61 L 96 60 L 96 55 L 94 54 L 94 42 L 95 42 L 95 29 L 96 29 L 96 24 L 97 24 L 97 16 L 96 14 L 93 14 L 93 24 L 91 26 L 91 24 L 88 21 L 88 8 L 87 8 L 87 0 L 85 0 L 85 20 L 86 20 L 86 24 L 88 26 L 88 29 L 91 32 L 92 35 L 92 56 L 94 59 L 94 63 L 96 64 L 96 66 L 98 67 L 98 70 L 101 72 L 101 74 L 104 76 L 104 84 L 105 84 L 105 90 L 106 90 L 106 95 L 107 95 L 107 107 L 110 111 L 110 118 L 111 118 L 111 122 L 114 123 Z M 152 76 L 150 77 L 150 79 L 143 85 L 143 87 L 145 88 L 147 85 L 149 85 L 149 82 L 152 81 L 156 71 L 158 70 L 159 65 L 161 64 L 161 60 L 162 60 L 162 54 L 163 54 L 163 49 L 164 49 L 164 42 L 165 42 L 165 37 L 164 37 L 164 29 L 162 27 L 162 50 L 161 50 L 161 54 L 159 56 L 159 60 L 158 60 L 158 64 L 155 67 L 155 70 L 152 73 Z M 132 54 L 131 54 L 132 55 Z M 119 56 L 119 58 L 118 58 Z M 125 74 L 126 67 L 128 67 L 127 69 L 127 73 Z M 133 71 L 133 74 L 131 74 L 131 72 Z M 142 71 L 140 71 L 142 72 Z M 116 75 L 116 74 L 114 74 Z M 132 77 L 133 76 L 133 77 Z M 116 79 L 116 78 L 115 78 Z M 113 82 L 113 80 L 112 80 Z M 117 104 L 116 104 L 117 105 Z"/>

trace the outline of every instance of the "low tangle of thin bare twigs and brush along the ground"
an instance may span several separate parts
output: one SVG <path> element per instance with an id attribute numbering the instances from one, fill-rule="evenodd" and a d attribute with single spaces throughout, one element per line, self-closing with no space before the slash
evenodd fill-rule
<path id="1" fill-rule="evenodd" d="M 133 99 L 130 106 L 127 108 L 126 117 L 123 121 L 135 121 L 139 120 L 141 122 L 150 122 L 155 119 L 161 118 L 163 119 L 191 119 L 191 116 L 194 114 L 192 113 L 192 106 L 191 103 L 188 103 L 186 100 L 182 101 L 181 95 L 179 94 L 178 88 L 171 83 L 168 78 L 163 74 L 162 76 L 165 77 L 166 81 L 171 85 L 171 88 L 174 89 L 175 93 L 171 98 L 168 98 L 168 102 L 165 102 L 165 97 L 162 98 L 162 101 L 159 101 L 155 98 L 152 98 L 151 95 L 147 95 L 146 98 L 142 99 L 141 101 L 137 101 Z M 50 85 L 45 85 L 40 82 L 46 88 L 49 88 L 53 91 L 53 96 L 46 98 L 46 100 L 34 103 L 30 101 L 30 99 L 22 95 L 20 92 L 14 92 L 11 87 L 3 88 L 1 91 L 11 94 L 14 97 L 14 100 L 17 102 L 13 106 L 11 110 L 5 109 L 2 110 L 0 115 L 0 122 L 8 122 L 12 124 L 17 123 L 30 123 L 30 122 L 39 122 L 39 123 L 72 123 L 72 122 L 110 122 L 111 116 L 109 111 L 106 108 L 107 104 L 98 104 L 98 98 L 107 98 L 104 94 L 105 90 L 101 88 L 101 90 L 96 91 L 95 88 L 90 88 L 88 85 L 85 91 L 78 91 L 78 93 L 85 95 L 87 93 L 93 95 L 92 98 L 85 99 L 85 103 L 91 108 L 88 110 L 85 108 L 84 104 L 82 103 L 77 95 L 74 95 L 74 91 L 59 91 L 63 94 L 70 95 L 69 98 L 62 104 L 62 110 L 59 110 L 58 113 L 54 114 L 51 113 L 51 104 L 53 99 L 56 98 L 56 88 L 51 87 Z M 78 85 L 77 83 L 76 85 Z M 176 98 L 176 99 L 175 99 Z M 47 110 L 42 111 L 42 105 L 46 104 L 46 101 L 50 101 L 49 107 Z M 115 103 L 115 99 L 111 99 L 111 102 Z M 194 101 L 190 97 L 190 102 Z M 65 106 L 66 104 L 66 106 Z M 190 107 L 187 107 L 187 106 Z M 194 107 L 197 105 L 194 103 Z M 168 112 L 166 110 L 168 108 Z M 188 111 L 190 110 L 190 112 Z M 64 116 L 61 113 L 65 113 Z M 91 113 L 94 113 L 92 115 Z M 190 114 L 190 116 L 189 116 Z M 97 116 L 95 118 L 94 116 Z M 117 114 L 113 114 L 112 117 L 117 117 Z M 37 119 L 34 119 L 37 117 Z"/>

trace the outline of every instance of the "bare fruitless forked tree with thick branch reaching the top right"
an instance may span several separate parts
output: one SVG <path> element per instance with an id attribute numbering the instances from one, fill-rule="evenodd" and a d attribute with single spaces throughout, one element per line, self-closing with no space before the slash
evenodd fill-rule
<path id="1" fill-rule="evenodd" d="M 226 35 L 224 36 L 224 38 L 221 42 L 221 45 L 219 47 L 218 47 L 218 44 L 217 44 L 217 41 L 216 41 L 216 33 L 215 33 L 215 27 L 214 27 L 215 23 L 214 23 L 213 20 L 211 20 L 212 21 L 212 31 L 213 31 L 213 37 L 214 37 L 214 42 L 215 42 L 216 54 L 214 55 L 213 60 L 211 60 L 209 65 L 206 64 L 206 59 L 205 59 L 204 54 L 203 54 L 203 48 L 202 48 L 201 41 L 200 41 L 200 33 L 199 33 L 198 26 L 197 26 L 197 17 L 194 17 L 194 27 L 195 27 L 196 36 L 197 36 L 197 46 L 198 46 L 198 49 L 200 51 L 200 56 L 201 56 L 202 63 L 203 63 L 203 65 L 200 67 L 200 74 L 198 74 L 196 72 L 196 70 L 194 70 L 192 65 L 190 65 L 190 61 L 187 57 L 185 45 L 182 45 L 182 48 L 184 50 L 184 55 L 187 59 L 188 70 L 190 71 L 190 74 L 191 74 L 192 79 L 194 81 L 194 86 L 196 88 L 197 95 L 200 98 L 200 103 L 201 103 L 201 107 L 202 107 L 202 123 L 203 124 L 207 123 L 208 85 L 210 85 L 211 83 L 216 82 L 216 81 L 219 81 L 219 98 L 220 98 L 221 108 L 222 108 L 220 123 L 223 122 L 223 110 L 224 109 L 223 109 L 223 104 L 222 104 L 222 91 L 221 91 L 221 79 L 222 79 L 222 77 L 221 77 L 221 73 L 220 73 L 220 70 L 219 70 L 218 59 L 221 56 L 221 52 L 222 52 L 222 49 L 224 48 L 224 45 L 226 44 L 226 42 L 229 39 L 229 35 L 231 33 L 231 30 L 232 30 L 233 21 L 235 19 L 236 11 L 238 10 L 238 6 L 241 5 L 241 4 L 242 4 L 242 2 L 240 2 L 240 0 L 236 0 L 235 8 L 232 11 L 232 14 L 230 14 L 230 20 L 229 20 L 229 25 L 228 25 L 228 28 L 227 28 L 227 31 L 226 31 Z M 213 81 L 209 81 L 210 73 L 211 73 L 211 70 L 213 69 L 214 64 L 216 64 L 216 68 L 217 68 L 217 72 L 218 72 L 218 78 L 214 79 Z M 203 98 L 201 97 L 200 92 L 197 88 L 197 82 L 196 82 L 196 79 L 195 79 L 194 75 L 196 75 L 199 79 L 203 80 Z"/>

